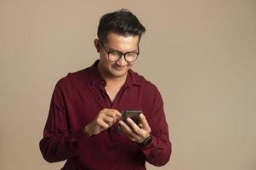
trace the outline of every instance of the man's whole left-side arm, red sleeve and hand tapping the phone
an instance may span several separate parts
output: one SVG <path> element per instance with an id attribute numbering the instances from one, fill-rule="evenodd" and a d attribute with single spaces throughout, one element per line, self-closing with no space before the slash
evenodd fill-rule
<path id="1" fill-rule="evenodd" d="M 121 116 L 117 110 L 103 109 L 93 122 L 73 130 L 63 96 L 59 82 L 54 89 L 43 139 L 40 141 L 43 158 L 49 162 L 64 161 L 77 156 L 86 144 L 91 144 L 90 136 L 111 127 Z"/>

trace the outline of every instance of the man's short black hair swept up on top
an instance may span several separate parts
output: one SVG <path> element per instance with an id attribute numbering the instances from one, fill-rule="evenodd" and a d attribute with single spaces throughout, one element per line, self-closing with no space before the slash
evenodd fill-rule
<path id="1" fill-rule="evenodd" d="M 122 36 L 142 36 L 145 27 L 142 26 L 138 18 L 128 9 L 122 8 L 119 11 L 108 13 L 100 18 L 98 26 L 98 38 L 102 42 L 107 41 L 108 33 L 117 33 Z"/>

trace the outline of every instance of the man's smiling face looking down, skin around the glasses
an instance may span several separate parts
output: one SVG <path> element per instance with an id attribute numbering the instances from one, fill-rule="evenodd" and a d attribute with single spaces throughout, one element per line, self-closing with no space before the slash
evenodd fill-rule
<path id="1" fill-rule="evenodd" d="M 109 33 L 107 36 L 107 42 L 105 42 L 104 48 L 107 51 L 120 51 L 122 54 L 127 52 L 138 52 L 139 36 L 121 36 L 117 33 Z M 102 44 L 98 42 L 100 47 L 100 71 L 105 77 L 126 77 L 127 72 L 134 62 L 127 62 L 122 55 L 117 61 L 111 61 L 108 58 L 108 54 L 102 47 Z M 97 48 L 97 47 L 96 47 Z"/>

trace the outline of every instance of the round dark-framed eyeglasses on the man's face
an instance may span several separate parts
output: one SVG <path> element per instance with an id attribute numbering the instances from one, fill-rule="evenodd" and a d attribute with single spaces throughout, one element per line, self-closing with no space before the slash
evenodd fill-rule
<path id="1" fill-rule="evenodd" d="M 138 52 L 127 52 L 123 54 L 121 51 L 117 51 L 117 50 L 107 51 L 103 45 L 103 42 L 100 42 L 100 44 L 102 48 L 105 50 L 105 52 L 108 54 L 108 58 L 113 62 L 116 62 L 118 59 L 120 59 L 122 55 L 127 62 L 133 62 L 138 58 L 138 55 L 139 55 L 139 46 L 138 46 Z"/>

